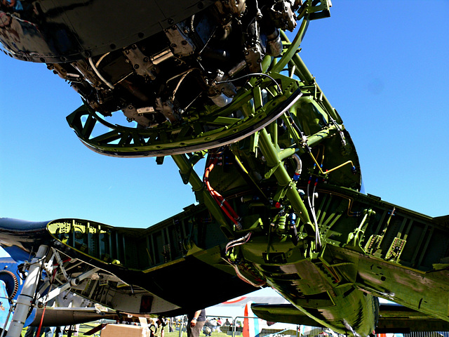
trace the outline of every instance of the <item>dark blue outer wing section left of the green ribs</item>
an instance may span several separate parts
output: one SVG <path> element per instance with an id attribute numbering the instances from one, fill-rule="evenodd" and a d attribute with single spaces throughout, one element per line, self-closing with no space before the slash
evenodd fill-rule
<path id="1" fill-rule="evenodd" d="M 0 218 L 0 246 L 19 263 L 29 260 L 30 254 L 51 240 L 46 230 L 48 223 Z"/>

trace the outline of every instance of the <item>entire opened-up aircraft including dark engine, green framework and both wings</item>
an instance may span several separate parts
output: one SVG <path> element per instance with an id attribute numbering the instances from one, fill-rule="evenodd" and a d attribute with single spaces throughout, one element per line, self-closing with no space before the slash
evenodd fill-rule
<path id="1" fill-rule="evenodd" d="M 87 28 L 62 22 L 105 1 L 39 2 L 34 16 L 6 13 L 36 34 L 34 44 L 2 41 L 5 51 L 46 62 L 82 96 L 67 121 L 84 145 L 158 164 L 172 156 L 198 203 L 147 229 L 1 218 L 1 246 L 16 260 L 34 256 L 32 305 L 70 289 L 121 312 L 170 316 L 271 286 L 317 324 L 351 336 L 375 331 L 377 297 L 449 322 L 441 296 L 449 218 L 360 192 L 351 137 L 300 58 L 307 26 L 328 16 L 328 1 L 158 3 L 160 19 L 149 14 L 153 3 L 141 4 L 142 13 L 123 15 L 150 15 L 152 25 L 136 20 L 114 29 L 118 36 L 90 39 Z M 107 19 L 98 25 L 112 27 Z M 282 30 L 300 19 L 289 41 Z M 56 48 L 53 27 L 65 48 Z M 107 121 L 117 110 L 127 126 Z M 194 166 L 204 161 L 200 178 Z M 198 276 L 185 277 L 192 268 Z M 8 336 L 20 323 L 14 329 Z"/>

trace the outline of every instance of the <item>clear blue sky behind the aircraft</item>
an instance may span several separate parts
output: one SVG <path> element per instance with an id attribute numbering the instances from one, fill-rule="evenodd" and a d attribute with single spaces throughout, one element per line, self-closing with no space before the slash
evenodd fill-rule
<path id="1" fill-rule="evenodd" d="M 302 58 L 342 116 L 366 192 L 449 213 L 449 1 L 333 1 Z M 192 204 L 171 160 L 84 147 L 65 117 L 79 96 L 42 64 L 0 55 L 0 216 L 148 227 Z"/>

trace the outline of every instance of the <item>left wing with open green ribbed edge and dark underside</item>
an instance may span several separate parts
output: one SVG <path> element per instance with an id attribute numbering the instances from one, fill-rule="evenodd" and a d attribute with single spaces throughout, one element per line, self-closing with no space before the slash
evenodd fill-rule
<path id="1" fill-rule="evenodd" d="M 79 219 L 0 219 L 0 244 L 15 260 L 45 244 L 51 247 L 47 260 L 61 267 L 58 286 L 136 314 L 184 314 L 257 290 L 222 259 L 228 242 L 203 206 L 148 229 Z"/>

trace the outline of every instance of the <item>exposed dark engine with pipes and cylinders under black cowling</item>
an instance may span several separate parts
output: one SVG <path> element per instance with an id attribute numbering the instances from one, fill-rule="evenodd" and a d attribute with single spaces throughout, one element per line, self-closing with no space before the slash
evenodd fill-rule
<path id="1" fill-rule="evenodd" d="M 42 2 L 41 5 L 33 3 L 33 8 L 21 13 L 21 19 L 25 17 L 32 22 L 36 31 L 46 32 L 51 8 L 44 7 L 46 1 Z M 98 53 L 101 48 L 88 48 L 86 40 L 94 40 L 87 37 L 88 32 L 74 28 L 68 31 L 67 27 L 62 29 L 67 43 L 74 45 L 77 44 L 75 40 L 81 41 L 77 47 L 83 52 L 52 51 L 55 37 L 50 32 L 41 34 L 40 42 L 45 43 L 46 48 L 34 44 L 36 51 L 28 52 L 27 56 L 16 50 L 13 41 L 6 40 L 4 47 L 15 58 L 46 62 L 49 70 L 69 81 L 83 100 L 105 117 L 121 110 L 128 121 L 137 122 L 140 128 L 164 122 L 179 124 L 189 115 L 186 112 L 189 107 L 224 107 L 231 103 L 237 89 L 248 80 L 245 75 L 262 72 L 265 55 L 282 53 L 279 29 L 291 31 L 296 27 L 295 11 L 300 8 L 300 2 L 199 2 L 194 13 L 183 20 L 176 22 L 169 18 L 159 26 L 159 31 L 152 29 L 151 36 L 140 32 L 135 40 L 128 40 L 132 43 L 124 46 L 121 46 L 120 37 L 115 37 L 109 43 L 109 50 L 102 53 Z M 178 12 L 192 7 L 187 3 L 173 6 L 178 7 Z M 34 15 L 29 15 L 30 11 L 34 11 Z M 74 11 L 81 14 L 79 8 Z M 70 14 L 66 12 L 65 15 Z M 135 20 L 144 19 L 139 15 L 135 14 Z M 11 14 L 10 18 L 14 19 L 15 15 Z M 58 19 L 65 20 L 62 15 Z M 152 19 L 155 18 L 147 18 Z M 114 18 L 109 16 L 107 20 Z M 25 25 L 22 20 L 18 22 Z M 114 24 L 125 31 L 134 29 L 123 21 Z M 109 35 L 100 36 L 93 42 L 95 46 L 104 44 L 107 38 Z M 45 57 L 51 54 L 52 57 Z"/>

